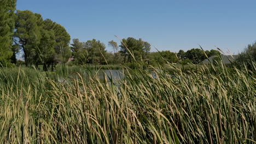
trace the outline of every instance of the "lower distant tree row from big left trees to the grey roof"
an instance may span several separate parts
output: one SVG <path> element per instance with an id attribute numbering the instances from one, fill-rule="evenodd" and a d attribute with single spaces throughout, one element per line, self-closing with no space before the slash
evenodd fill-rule
<path id="1" fill-rule="evenodd" d="M 132 65 L 135 61 L 150 65 L 169 63 L 195 63 L 198 64 L 207 57 L 220 55 L 217 50 L 203 51 L 191 49 L 187 52 L 179 50 L 178 53 L 171 51 L 150 52 L 151 45 L 142 39 L 127 38 L 121 40 L 118 45 L 115 41 L 109 41 L 113 52 L 107 52 L 106 46 L 99 40 L 88 40 L 81 42 L 73 39 L 71 44 L 73 64 L 126 64 Z M 207 57 L 206 57 L 207 56 Z"/>

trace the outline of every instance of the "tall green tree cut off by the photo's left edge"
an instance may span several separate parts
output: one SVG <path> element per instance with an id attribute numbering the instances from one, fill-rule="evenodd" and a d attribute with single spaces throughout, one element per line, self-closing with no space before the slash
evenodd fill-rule
<path id="1" fill-rule="evenodd" d="M 9 65 L 13 50 L 14 10 L 16 0 L 2 0 L 0 5 L 0 66 Z"/>

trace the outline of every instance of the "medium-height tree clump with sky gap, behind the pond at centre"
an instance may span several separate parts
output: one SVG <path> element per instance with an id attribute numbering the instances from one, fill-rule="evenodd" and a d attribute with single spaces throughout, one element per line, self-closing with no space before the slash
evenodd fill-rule
<path id="1" fill-rule="evenodd" d="M 80 42 L 73 39 L 71 44 L 73 64 L 127 64 L 136 61 L 145 61 L 148 58 L 150 44 L 142 39 L 127 38 L 118 45 L 115 41 L 109 41 L 113 52 L 107 52 L 106 46 L 100 40 L 88 40 Z"/>

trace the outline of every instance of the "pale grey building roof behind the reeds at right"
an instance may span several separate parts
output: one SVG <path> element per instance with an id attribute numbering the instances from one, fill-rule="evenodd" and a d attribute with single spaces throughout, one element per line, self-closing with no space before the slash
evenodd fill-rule
<path id="1" fill-rule="evenodd" d="M 225 65 L 229 65 L 231 64 L 231 62 L 234 62 L 236 60 L 237 56 L 238 55 L 221 55 L 222 62 Z M 203 60 L 202 63 L 203 64 L 210 64 L 210 62 L 213 63 L 214 61 L 217 61 L 218 56 L 211 56 L 211 57 L 208 57 L 208 59 Z"/>

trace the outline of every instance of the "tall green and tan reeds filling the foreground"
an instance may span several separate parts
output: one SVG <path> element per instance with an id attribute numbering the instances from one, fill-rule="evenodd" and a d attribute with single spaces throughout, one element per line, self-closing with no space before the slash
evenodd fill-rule
<path id="1" fill-rule="evenodd" d="M 155 77 L 136 69 L 118 83 L 0 69 L 0 143 L 256 141 L 256 69 L 151 69 Z"/>

